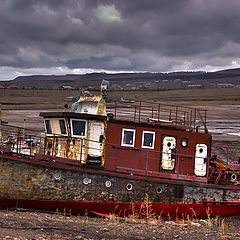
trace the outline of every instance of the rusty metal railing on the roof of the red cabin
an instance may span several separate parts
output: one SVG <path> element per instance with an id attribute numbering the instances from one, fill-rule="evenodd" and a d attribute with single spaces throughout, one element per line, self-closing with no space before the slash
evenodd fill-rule
<path id="1" fill-rule="evenodd" d="M 177 126 L 192 131 L 207 130 L 207 110 L 163 103 L 112 100 L 107 102 L 107 113 L 113 119 L 138 123 Z"/>

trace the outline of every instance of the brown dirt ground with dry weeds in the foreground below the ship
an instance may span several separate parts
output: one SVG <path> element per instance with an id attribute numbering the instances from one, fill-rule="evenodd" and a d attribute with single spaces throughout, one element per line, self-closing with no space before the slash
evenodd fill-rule
<path id="1" fill-rule="evenodd" d="M 133 222 L 0 211 L 0 239 L 240 239 L 240 218 Z"/>

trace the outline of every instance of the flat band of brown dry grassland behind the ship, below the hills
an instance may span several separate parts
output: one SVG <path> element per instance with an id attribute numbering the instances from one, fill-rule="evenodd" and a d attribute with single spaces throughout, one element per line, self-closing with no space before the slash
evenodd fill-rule
<path id="1" fill-rule="evenodd" d="M 3 108 L 61 107 L 64 104 L 65 97 L 77 95 L 77 90 L 0 89 L 0 104 L 3 105 Z M 110 91 L 108 97 L 180 105 L 235 105 L 240 104 L 240 88 L 169 91 Z"/>

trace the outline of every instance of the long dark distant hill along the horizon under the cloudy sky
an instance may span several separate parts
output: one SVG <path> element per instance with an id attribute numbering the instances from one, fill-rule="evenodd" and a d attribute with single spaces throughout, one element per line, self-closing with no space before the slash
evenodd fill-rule
<path id="1" fill-rule="evenodd" d="M 169 89 L 201 86 L 204 88 L 221 86 L 237 87 L 240 85 L 240 68 L 216 72 L 171 72 L 171 73 L 87 73 L 67 75 L 32 75 L 20 76 L 10 81 L 2 81 L 3 86 L 18 88 L 53 89 L 62 86 L 72 88 L 98 89 L 101 81 L 106 79 L 113 89 Z"/>

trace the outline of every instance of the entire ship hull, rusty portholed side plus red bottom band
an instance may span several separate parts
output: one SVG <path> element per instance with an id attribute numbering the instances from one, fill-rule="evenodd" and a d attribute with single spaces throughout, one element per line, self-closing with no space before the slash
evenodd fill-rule
<path id="1" fill-rule="evenodd" d="M 171 182 L 9 155 L 0 156 L 0 190 L 2 209 L 144 217 L 149 207 L 161 217 L 240 215 L 240 190 L 233 186 Z"/>

